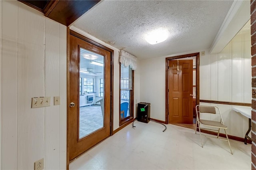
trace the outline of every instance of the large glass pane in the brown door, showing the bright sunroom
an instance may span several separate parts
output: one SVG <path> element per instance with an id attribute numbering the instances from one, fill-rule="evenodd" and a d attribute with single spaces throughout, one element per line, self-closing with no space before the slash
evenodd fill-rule
<path id="1" fill-rule="evenodd" d="M 80 48 L 79 139 L 104 127 L 104 56 Z"/>

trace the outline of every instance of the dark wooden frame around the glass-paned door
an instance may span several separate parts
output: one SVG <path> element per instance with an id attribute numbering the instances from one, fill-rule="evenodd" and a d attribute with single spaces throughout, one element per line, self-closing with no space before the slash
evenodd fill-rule
<path id="1" fill-rule="evenodd" d="M 70 164 L 70 160 L 69 160 L 69 137 L 70 137 L 70 132 L 69 132 L 69 114 L 70 114 L 70 107 L 69 107 L 69 103 L 70 103 L 70 79 L 69 79 L 69 67 L 70 67 L 70 35 L 72 36 L 75 36 L 77 38 L 80 38 L 82 40 L 84 40 L 85 42 L 88 42 L 88 43 L 91 43 L 97 47 L 100 47 L 106 51 L 109 51 L 110 52 L 110 63 L 111 63 L 111 66 L 110 66 L 110 69 L 111 69 L 111 80 L 110 80 L 110 136 L 113 135 L 113 125 L 114 125 L 114 122 L 113 122 L 113 93 L 114 93 L 114 64 L 113 64 L 113 61 L 114 61 L 114 50 L 113 49 L 110 49 L 98 42 L 95 42 L 94 40 L 91 40 L 90 38 L 87 38 L 73 30 L 70 30 L 70 28 L 68 27 L 67 28 L 67 170 L 69 169 L 69 164 Z"/>

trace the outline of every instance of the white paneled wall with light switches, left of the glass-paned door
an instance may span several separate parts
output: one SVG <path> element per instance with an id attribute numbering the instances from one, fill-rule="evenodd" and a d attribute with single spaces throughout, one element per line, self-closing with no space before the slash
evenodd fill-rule
<path id="1" fill-rule="evenodd" d="M 66 169 L 66 26 L 18 1 L 1 1 L 1 169 Z M 32 97 L 51 106 L 31 108 Z M 60 96 L 60 105 L 53 97 Z"/>

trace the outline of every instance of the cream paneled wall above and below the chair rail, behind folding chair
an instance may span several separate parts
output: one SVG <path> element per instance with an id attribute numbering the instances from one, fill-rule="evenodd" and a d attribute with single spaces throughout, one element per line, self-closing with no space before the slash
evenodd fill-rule
<path id="1" fill-rule="evenodd" d="M 251 103 L 250 65 L 250 30 L 241 30 L 220 53 L 200 56 L 200 100 Z M 200 104 L 218 106 L 228 134 L 244 138 L 248 118 L 232 110 L 243 106 Z"/>

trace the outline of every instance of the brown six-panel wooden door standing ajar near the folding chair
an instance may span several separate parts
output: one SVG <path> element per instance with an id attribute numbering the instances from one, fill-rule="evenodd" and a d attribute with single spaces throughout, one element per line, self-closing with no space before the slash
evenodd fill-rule
<path id="1" fill-rule="evenodd" d="M 169 123 L 193 124 L 193 60 L 170 60 L 168 72 Z"/>

